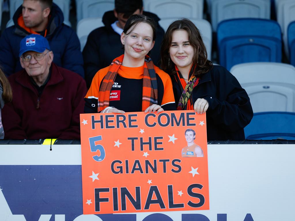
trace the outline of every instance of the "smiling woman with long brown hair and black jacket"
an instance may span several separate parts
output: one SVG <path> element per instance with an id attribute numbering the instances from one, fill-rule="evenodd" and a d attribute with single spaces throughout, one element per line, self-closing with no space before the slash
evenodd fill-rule
<path id="1" fill-rule="evenodd" d="M 207 113 L 208 140 L 244 140 L 253 110 L 246 91 L 224 67 L 213 65 L 197 27 L 174 21 L 161 47 L 161 69 L 171 75 L 177 110 Z"/>

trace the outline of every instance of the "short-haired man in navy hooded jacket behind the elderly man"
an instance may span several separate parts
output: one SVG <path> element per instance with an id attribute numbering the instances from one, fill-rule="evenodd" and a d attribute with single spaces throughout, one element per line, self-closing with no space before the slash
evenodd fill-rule
<path id="1" fill-rule="evenodd" d="M 0 64 L 4 73 L 9 76 L 22 70 L 19 43 L 27 35 L 40 34 L 48 40 L 56 65 L 84 77 L 79 39 L 63 20 L 63 12 L 52 0 L 24 0 L 14 13 L 14 25 L 6 28 L 0 38 Z"/>

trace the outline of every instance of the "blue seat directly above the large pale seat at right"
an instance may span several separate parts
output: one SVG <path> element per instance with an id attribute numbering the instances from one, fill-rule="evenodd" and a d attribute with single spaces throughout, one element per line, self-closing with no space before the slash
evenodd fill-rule
<path id="1" fill-rule="evenodd" d="M 219 64 L 230 70 L 245 62 L 281 62 L 281 28 L 268 19 L 230 19 L 217 27 Z"/>

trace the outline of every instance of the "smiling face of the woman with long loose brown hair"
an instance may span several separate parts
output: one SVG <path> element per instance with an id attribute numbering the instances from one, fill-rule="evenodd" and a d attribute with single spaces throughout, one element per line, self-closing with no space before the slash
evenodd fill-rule
<path id="1" fill-rule="evenodd" d="M 189 43 L 189 34 L 181 29 L 172 33 L 171 46 L 169 48 L 171 60 L 177 67 L 191 67 L 195 54 L 194 47 Z"/>

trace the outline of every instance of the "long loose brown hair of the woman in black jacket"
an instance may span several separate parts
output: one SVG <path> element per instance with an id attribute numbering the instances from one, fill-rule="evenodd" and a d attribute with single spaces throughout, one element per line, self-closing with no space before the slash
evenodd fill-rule
<path id="1" fill-rule="evenodd" d="M 189 43 L 195 48 L 193 64 L 197 65 L 197 67 L 193 74 L 199 77 L 207 73 L 213 67 L 213 64 L 208 60 L 207 50 L 201 33 L 191 20 L 185 18 L 172 22 L 164 35 L 161 47 L 161 69 L 170 75 L 176 73 L 175 64 L 170 59 L 169 55 L 172 34 L 176 30 L 185 30 L 189 35 Z M 168 61 L 168 59 L 170 59 L 170 61 Z"/>

